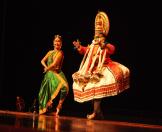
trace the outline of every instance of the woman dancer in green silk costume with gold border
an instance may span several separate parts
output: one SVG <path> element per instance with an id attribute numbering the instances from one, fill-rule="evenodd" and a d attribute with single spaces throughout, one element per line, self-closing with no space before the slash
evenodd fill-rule
<path id="1" fill-rule="evenodd" d="M 67 79 L 61 70 L 64 59 L 64 54 L 61 50 L 61 36 L 55 35 L 53 46 L 54 49 L 50 50 L 41 60 L 45 75 L 41 83 L 38 101 L 39 114 L 44 114 L 52 107 L 53 100 L 60 93 L 60 100 L 56 108 L 56 116 L 58 116 L 62 104 L 68 94 L 69 86 Z"/>

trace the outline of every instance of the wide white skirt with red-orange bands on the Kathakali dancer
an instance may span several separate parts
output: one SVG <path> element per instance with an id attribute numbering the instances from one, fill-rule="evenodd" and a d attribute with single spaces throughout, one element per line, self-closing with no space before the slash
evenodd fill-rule
<path id="1" fill-rule="evenodd" d="M 73 74 L 74 100 L 85 102 L 114 96 L 129 88 L 129 69 L 118 63 L 110 62 L 104 66 L 100 74 L 92 74 L 90 77 Z"/>

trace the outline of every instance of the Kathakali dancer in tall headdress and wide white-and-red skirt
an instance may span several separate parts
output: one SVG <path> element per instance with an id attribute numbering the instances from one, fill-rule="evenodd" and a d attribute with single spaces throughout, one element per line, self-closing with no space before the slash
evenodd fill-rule
<path id="1" fill-rule="evenodd" d="M 115 46 L 106 41 L 109 27 L 107 14 L 99 11 L 95 17 L 92 43 L 83 46 L 79 41 L 73 42 L 78 52 L 84 55 L 79 70 L 72 75 L 74 100 L 93 102 L 93 113 L 87 115 L 88 119 L 103 119 L 101 99 L 129 88 L 129 69 L 110 58 Z"/>

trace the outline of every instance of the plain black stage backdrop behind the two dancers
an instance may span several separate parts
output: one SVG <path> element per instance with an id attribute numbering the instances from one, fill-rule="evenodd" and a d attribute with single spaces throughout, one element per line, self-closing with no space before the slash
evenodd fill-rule
<path id="1" fill-rule="evenodd" d="M 70 86 L 64 108 L 89 110 L 89 104 L 73 100 L 71 76 L 82 56 L 73 49 L 72 42 L 80 39 L 83 45 L 90 43 L 95 16 L 105 11 L 110 19 L 108 39 L 117 48 L 112 59 L 130 69 L 131 79 L 130 89 L 103 100 L 103 109 L 161 112 L 158 11 L 150 9 L 153 3 L 3 0 L 1 6 L 0 109 L 15 110 L 16 96 L 22 96 L 29 110 L 43 78 L 40 60 L 53 48 L 53 35 L 60 34 L 65 54 L 62 70 Z"/>

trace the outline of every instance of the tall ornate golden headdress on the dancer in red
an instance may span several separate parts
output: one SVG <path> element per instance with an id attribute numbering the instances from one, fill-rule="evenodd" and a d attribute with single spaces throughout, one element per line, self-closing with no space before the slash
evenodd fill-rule
<path id="1" fill-rule="evenodd" d="M 95 18 L 95 34 L 103 33 L 107 36 L 110 28 L 109 18 L 103 11 L 99 11 Z"/>

